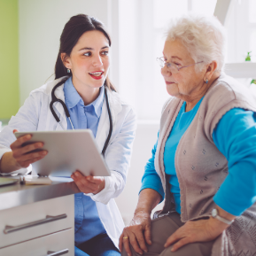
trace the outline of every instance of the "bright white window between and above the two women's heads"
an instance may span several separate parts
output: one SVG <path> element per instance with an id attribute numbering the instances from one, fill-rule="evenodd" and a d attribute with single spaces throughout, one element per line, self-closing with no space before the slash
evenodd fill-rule
<path id="1" fill-rule="evenodd" d="M 216 0 L 121 0 L 120 95 L 133 104 L 139 120 L 159 120 L 169 95 L 156 58 L 162 56 L 164 31 L 172 17 L 187 12 L 212 15 Z"/>

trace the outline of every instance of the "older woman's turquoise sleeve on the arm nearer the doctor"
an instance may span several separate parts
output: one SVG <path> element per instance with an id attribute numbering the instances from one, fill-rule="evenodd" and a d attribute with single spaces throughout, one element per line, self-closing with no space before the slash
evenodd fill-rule
<path id="1" fill-rule="evenodd" d="M 164 189 L 162 186 L 161 179 L 156 172 L 155 164 L 154 164 L 157 146 L 158 146 L 158 142 L 153 146 L 153 149 L 151 151 L 152 156 L 148 160 L 148 162 L 146 163 L 146 166 L 144 168 L 144 175 L 142 178 L 142 186 L 141 186 L 140 192 L 144 189 L 156 190 L 161 195 L 161 197 L 162 197 L 161 201 L 162 201 L 165 198 L 165 192 L 164 192 Z"/>

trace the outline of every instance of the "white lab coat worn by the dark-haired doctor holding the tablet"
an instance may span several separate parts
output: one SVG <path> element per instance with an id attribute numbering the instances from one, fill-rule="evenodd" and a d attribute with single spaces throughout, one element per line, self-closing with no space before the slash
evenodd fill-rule
<path id="1" fill-rule="evenodd" d="M 10 144 L 16 139 L 12 130 L 62 130 L 50 112 L 51 90 L 65 77 L 50 81 L 39 89 L 33 90 L 19 112 L 12 116 L 8 126 L 0 132 L 0 159 L 4 152 L 11 151 Z M 65 102 L 65 96 L 61 85 L 56 89 L 56 97 Z M 130 105 L 120 100 L 117 93 L 107 90 L 109 105 L 112 112 L 112 136 L 105 151 L 105 161 L 111 171 L 111 176 L 105 177 L 105 189 L 93 195 L 87 194 L 97 205 L 97 211 L 108 236 L 118 248 L 119 237 L 124 228 L 120 212 L 113 198 L 120 195 L 124 189 L 128 167 L 131 158 L 132 144 L 136 131 L 136 114 Z M 54 104 L 54 109 L 64 128 L 67 128 L 66 114 L 60 103 Z M 102 151 L 106 137 L 109 133 L 109 116 L 106 102 L 102 107 L 102 113 L 98 122 L 96 141 Z M 27 173 L 27 169 L 20 169 L 14 173 Z"/>

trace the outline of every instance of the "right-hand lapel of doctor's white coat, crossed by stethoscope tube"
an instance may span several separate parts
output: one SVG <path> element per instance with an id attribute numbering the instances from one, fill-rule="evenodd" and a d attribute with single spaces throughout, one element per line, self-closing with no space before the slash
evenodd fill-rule
<path id="1" fill-rule="evenodd" d="M 117 115 L 121 112 L 122 106 L 121 106 L 121 102 L 118 95 L 112 92 L 110 89 L 107 89 L 107 96 L 108 96 L 108 101 L 109 101 L 110 110 L 112 114 L 112 134 L 113 134 L 113 131 L 116 127 Z M 109 134 L 109 128 L 110 128 L 109 116 L 107 112 L 106 100 L 104 99 L 101 116 L 97 126 L 97 135 L 96 135 L 97 146 L 100 151 L 103 150 L 103 147 L 105 145 L 106 138 Z"/>

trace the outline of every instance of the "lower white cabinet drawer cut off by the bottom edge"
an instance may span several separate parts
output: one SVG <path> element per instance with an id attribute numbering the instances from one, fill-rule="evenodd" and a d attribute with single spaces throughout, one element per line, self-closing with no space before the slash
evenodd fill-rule
<path id="1" fill-rule="evenodd" d="M 1 256 L 74 256 L 74 229 L 59 231 L 0 249 Z"/>

